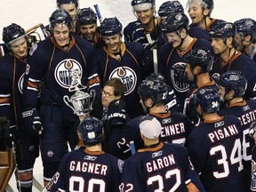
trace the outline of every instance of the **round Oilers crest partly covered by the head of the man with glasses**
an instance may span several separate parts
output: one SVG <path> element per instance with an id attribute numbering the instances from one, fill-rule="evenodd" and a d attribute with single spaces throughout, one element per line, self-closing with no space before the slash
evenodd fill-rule
<path id="1" fill-rule="evenodd" d="M 115 68 L 109 76 L 109 79 L 116 77 L 121 79 L 123 84 L 125 84 L 125 92 L 124 95 L 130 94 L 137 84 L 137 76 L 132 68 L 128 67 L 120 67 Z"/>

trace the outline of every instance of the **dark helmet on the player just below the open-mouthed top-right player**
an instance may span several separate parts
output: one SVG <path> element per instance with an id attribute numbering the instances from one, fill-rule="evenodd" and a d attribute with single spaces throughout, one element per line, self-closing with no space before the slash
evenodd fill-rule
<path id="1" fill-rule="evenodd" d="M 221 37 L 227 39 L 229 36 L 235 38 L 236 36 L 236 25 L 232 22 L 219 21 L 210 29 L 210 36 Z"/>

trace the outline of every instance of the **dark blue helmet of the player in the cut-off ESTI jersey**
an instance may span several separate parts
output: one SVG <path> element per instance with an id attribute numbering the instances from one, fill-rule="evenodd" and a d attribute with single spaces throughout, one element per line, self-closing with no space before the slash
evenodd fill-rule
<path id="1" fill-rule="evenodd" d="M 220 86 L 225 87 L 225 92 L 231 90 L 235 92 L 236 97 L 243 96 L 247 89 L 247 80 L 241 71 L 228 71 L 220 76 Z"/>

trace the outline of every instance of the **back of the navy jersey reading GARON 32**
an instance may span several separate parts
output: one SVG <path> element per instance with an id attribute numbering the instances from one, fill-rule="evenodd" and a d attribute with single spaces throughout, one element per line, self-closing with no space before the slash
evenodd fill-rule
<path id="1" fill-rule="evenodd" d="M 124 191 L 187 191 L 186 184 L 196 178 L 184 147 L 160 143 L 125 160 L 121 187 Z"/>

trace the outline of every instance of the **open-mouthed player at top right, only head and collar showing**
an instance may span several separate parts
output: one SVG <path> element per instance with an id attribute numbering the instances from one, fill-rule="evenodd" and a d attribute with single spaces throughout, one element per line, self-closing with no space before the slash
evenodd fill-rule
<path id="1" fill-rule="evenodd" d="M 223 20 L 211 18 L 211 13 L 214 7 L 213 0 L 188 0 L 188 14 L 192 20 L 190 26 L 197 26 L 210 31 L 216 23 Z"/>

